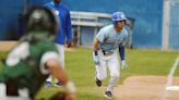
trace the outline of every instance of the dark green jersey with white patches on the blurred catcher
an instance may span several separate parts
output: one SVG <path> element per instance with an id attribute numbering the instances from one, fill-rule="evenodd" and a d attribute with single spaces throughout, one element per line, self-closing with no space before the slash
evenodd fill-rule
<path id="1" fill-rule="evenodd" d="M 23 41 L 9 54 L 4 68 L 0 71 L 0 82 L 13 80 L 17 88 L 27 88 L 34 98 L 50 72 L 45 67 L 49 59 L 57 59 L 59 53 L 56 46 L 48 40 L 29 43 Z"/>

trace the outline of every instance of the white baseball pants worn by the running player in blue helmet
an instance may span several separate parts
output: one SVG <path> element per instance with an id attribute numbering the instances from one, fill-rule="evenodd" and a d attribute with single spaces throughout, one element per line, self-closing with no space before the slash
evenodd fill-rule
<path id="1" fill-rule="evenodd" d="M 119 80 L 120 76 L 120 66 L 119 66 L 119 61 L 118 61 L 118 55 L 117 51 L 112 53 L 111 55 L 104 55 L 102 51 L 98 51 L 99 55 L 99 65 L 96 65 L 96 77 L 99 80 L 104 80 L 107 77 L 107 66 L 110 72 L 110 80 L 107 87 L 107 91 L 114 90 L 115 85 Z"/>

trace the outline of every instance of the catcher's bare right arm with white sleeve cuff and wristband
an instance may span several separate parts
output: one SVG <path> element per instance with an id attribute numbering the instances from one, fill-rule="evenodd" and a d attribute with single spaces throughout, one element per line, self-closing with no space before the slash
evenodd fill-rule
<path id="1" fill-rule="evenodd" d="M 64 70 L 62 68 L 59 53 L 56 50 L 48 50 L 45 52 L 40 60 L 40 72 L 45 75 L 53 75 L 61 84 L 68 89 L 68 92 L 73 97 L 75 93 L 74 84 L 68 78 Z M 72 99 L 72 100 L 75 100 Z"/>

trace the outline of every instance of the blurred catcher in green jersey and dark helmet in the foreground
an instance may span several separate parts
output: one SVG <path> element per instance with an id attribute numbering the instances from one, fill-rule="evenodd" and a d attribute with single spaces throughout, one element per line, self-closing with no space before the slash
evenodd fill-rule
<path id="1" fill-rule="evenodd" d="M 46 8 L 34 7 L 27 11 L 25 20 L 26 35 L 8 54 L 0 71 L 0 100 L 34 100 L 50 74 L 68 88 L 68 100 L 75 100 L 75 87 L 63 72 L 53 45 L 56 15 Z"/>

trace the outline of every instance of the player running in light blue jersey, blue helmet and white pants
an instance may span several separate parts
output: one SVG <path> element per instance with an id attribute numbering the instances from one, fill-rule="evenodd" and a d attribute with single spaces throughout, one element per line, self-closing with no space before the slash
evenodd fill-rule
<path id="1" fill-rule="evenodd" d="M 122 12 L 115 12 L 111 16 L 111 25 L 103 27 L 94 39 L 93 58 L 96 65 L 96 85 L 102 86 L 102 80 L 107 77 L 107 66 L 110 72 L 110 80 L 105 91 L 105 97 L 112 99 L 112 90 L 119 79 L 118 49 L 122 68 L 127 70 L 124 60 L 124 46 L 128 33 L 123 28 L 127 17 Z"/>

